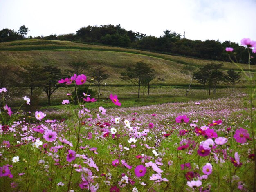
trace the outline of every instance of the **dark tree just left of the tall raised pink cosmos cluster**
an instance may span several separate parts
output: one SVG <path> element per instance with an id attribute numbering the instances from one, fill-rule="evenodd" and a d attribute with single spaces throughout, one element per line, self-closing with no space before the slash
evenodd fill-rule
<path id="1" fill-rule="evenodd" d="M 43 91 L 47 94 L 48 105 L 50 105 L 52 94 L 61 87 L 58 80 L 63 78 L 63 72 L 57 66 L 52 65 L 44 66 L 43 72 L 45 74 L 45 78 L 41 86 Z"/>

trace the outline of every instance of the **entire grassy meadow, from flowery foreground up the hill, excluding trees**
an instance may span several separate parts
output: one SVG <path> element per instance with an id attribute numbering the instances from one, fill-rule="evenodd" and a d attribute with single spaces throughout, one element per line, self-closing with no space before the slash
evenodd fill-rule
<path id="1" fill-rule="evenodd" d="M 0 58 L 13 65 L 63 62 L 65 66 L 72 58 L 83 57 L 107 63 L 112 78 L 102 86 L 98 100 L 85 93 L 82 102 L 74 103 L 62 87 L 52 98 L 54 105 L 38 106 L 34 111 L 29 111 L 27 97 L 6 103 L 7 90 L 0 87 L 1 191 L 255 190 L 255 89 L 251 76 L 245 76 L 234 92 L 222 85 L 215 95 L 208 95 L 195 83 L 185 97 L 189 79 L 181 75 L 182 65 L 203 65 L 205 61 L 196 64 L 193 58 L 150 53 L 168 58 L 159 59 L 142 55 L 146 54 L 143 51 L 136 56 L 99 50 L 42 51 L 47 46 L 67 46 L 67 42 L 32 42 L 2 43 Z M 25 51 L 31 46 L 37 50 Z M 122 82 L 115 69 L 141 59 L 151 61 L 167 80 L 152 86 L 149 96 L 142 87 L 138 99 L 137 87 Z M 229 68 L 239 69 L 231 63 L 223 69 Z M 72 85 L 67 87 L 89 85 L 85 76 L 69 77 Z M 46 97 L 40 100 L 42 104 Z M 22 106 L 12 107 L 18 104 Z"/>

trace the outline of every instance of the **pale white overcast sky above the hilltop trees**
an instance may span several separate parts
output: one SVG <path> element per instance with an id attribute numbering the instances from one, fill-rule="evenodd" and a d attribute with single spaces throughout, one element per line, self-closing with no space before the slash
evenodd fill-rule
<path id="1" fill-rule="evenodd" d="M 256 40 L 256 0 L 0 0 L 0 30 L 28 36 L 118 25 L 159 37 L 166 29 L 191 40 Z"/>

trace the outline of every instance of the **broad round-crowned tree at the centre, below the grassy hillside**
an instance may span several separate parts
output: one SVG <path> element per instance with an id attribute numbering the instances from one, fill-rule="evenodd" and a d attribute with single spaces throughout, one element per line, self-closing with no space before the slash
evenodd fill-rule
<path id="1" fill-rule="evenodd" d="M 126 71 L 121 73 L 121 79 L 128 81 L 134 85 L 138 85 L 138 98 L 140 92 L 140 86 L 143 82 L 150 82 L 155 74 L 155 70 L 145 63 L 139 61 L 132 67 L 127 67 Z"/>

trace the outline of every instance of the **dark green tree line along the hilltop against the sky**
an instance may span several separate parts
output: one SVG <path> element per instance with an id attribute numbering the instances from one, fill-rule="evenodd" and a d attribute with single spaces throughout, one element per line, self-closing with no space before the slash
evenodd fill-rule
<path id="1" fill-rule="evenodd" d="M 25 25 L 19 32 L 11 29 L 0 31 L 0 42 L 18 40 L 25 38 L 27 27 Z M 33 37 L 29 37 L 33 38 Z M 119 25 L 100 25 L 81 27 L 76 33 L 49 36 L 38 36 L 36 39 L 46 40 L 68 40 L 74 42 L 111 45 L 127 47 L 147 51 L 155 51 L 166 54 L 177 54 L 182 56 L 196 57 L 209 60 L 229 61 L 226 47 L 233 47 L 236 60 L 239 63 L 247 63 L 247 49 L 237 43 L 219 40 L 190 40 L 182 38 L 180 33 L 170 30 L 163 31 L 160 37 L 146 35 L 132 30 L 126 30 Z M 250 50 L 251 51 L 251 50 Z M 251 59 L 251 64 L 256 64 L 256 58 Z"/>

